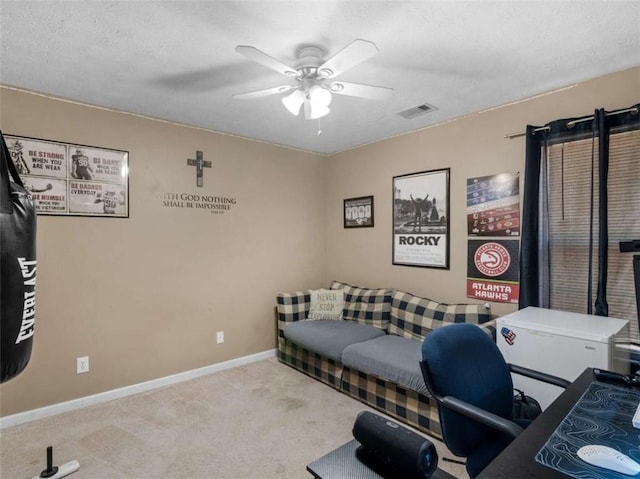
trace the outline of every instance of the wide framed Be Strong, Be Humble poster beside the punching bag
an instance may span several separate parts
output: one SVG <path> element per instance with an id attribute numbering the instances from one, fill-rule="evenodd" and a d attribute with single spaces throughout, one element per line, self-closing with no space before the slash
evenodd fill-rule
<path id="1" fill-rule="evenodd" d="M 129 217 L 129 153 L 5 135 L 41 215 Z"/>

